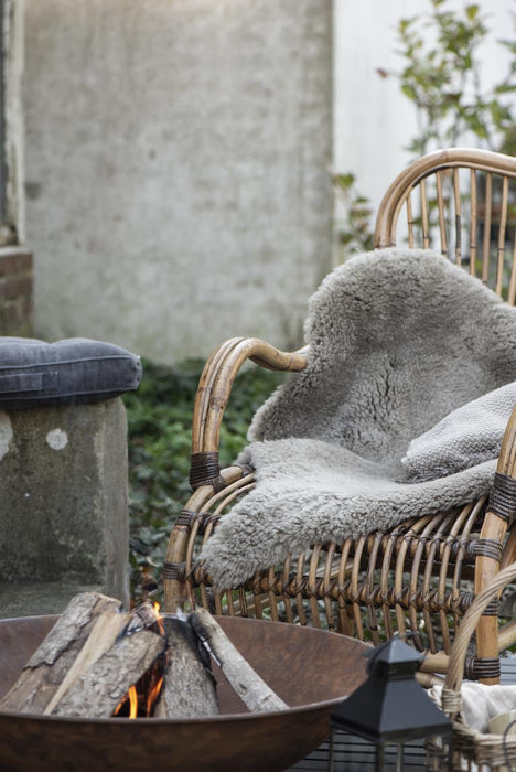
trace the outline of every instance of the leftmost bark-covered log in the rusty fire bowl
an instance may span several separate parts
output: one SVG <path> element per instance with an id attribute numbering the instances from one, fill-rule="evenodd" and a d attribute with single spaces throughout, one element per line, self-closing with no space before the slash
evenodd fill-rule
<path id="1" fill-rule="evenodd" d="M 73 598 L 56 624 L 23 668 L 22 675 L 0 703 L 0 710 L 42 714 L 52 700 L 99 619 L 116 625 L 127 618 L 121 603 L 97 592 Z"/>

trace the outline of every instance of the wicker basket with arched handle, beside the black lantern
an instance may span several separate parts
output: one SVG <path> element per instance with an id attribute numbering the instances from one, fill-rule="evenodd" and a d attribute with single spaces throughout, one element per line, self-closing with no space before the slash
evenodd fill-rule
<path id="1" fill-rule="evenodd" d="M 453 770 L 474 769 L 474 762 L 481 770 L 506 766 L 507 762 L 516 770 L 516 737 L 487 735 L 467 726 L 461 715 L 461 685 L 467 645 L 479 619 L 491 601 L 512 581 L 516 580 L 516 562 L 504 568 L 495 580 L 477 594 L 460 625 L 450 655 L 444 686 L 442 688 L 442 710 L 453 725 Z M 515 705 L 516 708 L 516 705 Z M 447 751 L 439 741 L 427 742 L 428 769 L 445 769 Z"/>

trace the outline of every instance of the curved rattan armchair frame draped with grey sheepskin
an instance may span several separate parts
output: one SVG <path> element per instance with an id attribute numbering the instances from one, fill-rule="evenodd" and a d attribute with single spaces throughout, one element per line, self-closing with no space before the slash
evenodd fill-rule
<path id="1" fill-rule="evenodd" d="M 402 217 L 405 211 L 406 217 Z M 385 194 L 376 247 L 440 249 L 502 296 L 516 297 L 516 159 L 450 149 L 412 163 Z M 491 497 L 462 510 L 409 519 L 343 544 L 314 544 L 309 556 L 250 576 L 229 592 L 212 586 L 197 560 L 217 521 L 254 486 L 251 469 L 219 470 L 224 409 L 247 360 L 302 371 L 308 347 L 283 353 L 258 339 L 234 337 L 204 368 L 193 415 L 194 493 L 171 534 L 163 580 L 165 608 L 202 603 L 219 614 L 267 616 L 370 640 L 411 633 L 426 667 L 445 672 L 455 625 L 501 566 L 516 560 L 516 410 L 507 427 Z M 498 652 L 516 641 L 516 621 L 499 626 L 491 604 L 479 622 L 467 675 L 495 683 Z"/>

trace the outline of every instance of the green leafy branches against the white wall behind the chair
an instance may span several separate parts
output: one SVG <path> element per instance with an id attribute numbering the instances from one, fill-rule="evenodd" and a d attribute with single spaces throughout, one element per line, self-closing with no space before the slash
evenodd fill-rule
<path id="1" fill-rule="evenodd" d="M 516 41 L 497 41 L 509 53 L 508 69 L 486 87 L 479 51 L 490 35 L 487 15 L 477 3 L 453 11 L 447 0 L 428 2 L 428 12 L 398 23 L 402 68 L 377 71 L 383 78 L 396 78 L 416 107 L 418 132 L 406 149 L 417 158 L 464 142 L 516 156 Z M 337 224 L 341 246 L 347 254 L 370 249 L 369 201 L 361 195 L 351 173 L 335 174 L 333 183 L 344 212 Z"/>

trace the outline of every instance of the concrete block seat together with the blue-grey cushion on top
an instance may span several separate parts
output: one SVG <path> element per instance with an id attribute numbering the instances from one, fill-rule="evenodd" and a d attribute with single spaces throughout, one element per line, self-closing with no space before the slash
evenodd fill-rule
<path id="1" fill-rule="evenodd" d="M 139 357 L 108 343 L 0 339 L 0 616 L 128 590 L 127 422 Z"/>

